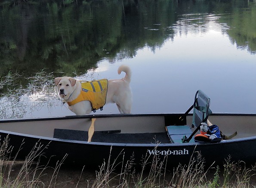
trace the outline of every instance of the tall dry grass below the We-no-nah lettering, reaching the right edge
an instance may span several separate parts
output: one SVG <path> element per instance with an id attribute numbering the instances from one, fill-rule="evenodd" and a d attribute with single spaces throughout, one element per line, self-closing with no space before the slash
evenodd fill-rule
<path id="1" fill-rule="evenodd" d="M 131 156 L 123 168 L 116 171 L 114 166 L 104 163 L 96 172 L 91 188 L 255 188 L 256 166 L 248 167 L 243 162 L 226 160 L 223 166 L 205 166 L 200 153 L 191 157 L 186 165 L 179 164 L 172 171 L 166 170 L 167 158 L 160 160 L 149 156 L 141 160 L 138 169 Z M 110 160 L 109 160 L 110 161 Z"/>

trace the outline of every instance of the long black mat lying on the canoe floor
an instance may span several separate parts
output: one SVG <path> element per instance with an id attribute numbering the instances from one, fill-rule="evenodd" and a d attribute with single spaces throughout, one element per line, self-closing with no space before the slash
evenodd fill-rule
<path id="1" fill-rule="evenodd" d="M 54 138 L 87 141 L 88 132 L 69 129 L 54 129 Z M 158 141 L 158 142 L 157 142 Z M 105 133 L 95 131 L 92 142 L 109 142 L 109 143 L 170 143 L 167 133 Z"/>

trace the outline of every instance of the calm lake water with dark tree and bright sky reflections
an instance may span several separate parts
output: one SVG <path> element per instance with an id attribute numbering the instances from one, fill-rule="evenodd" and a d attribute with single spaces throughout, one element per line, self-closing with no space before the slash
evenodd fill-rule
<path id="1" fill-rule="evenodd" d="M 117 79 L 122 64 L 132 113 L 185 112 L 198 89 L 214 113 L 256 113 L 255 0 L 13 2 L 0 3 L 1 118 L 73 115 L 53 78 Z"/>

